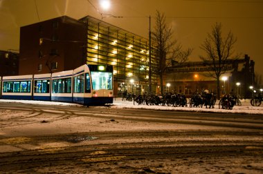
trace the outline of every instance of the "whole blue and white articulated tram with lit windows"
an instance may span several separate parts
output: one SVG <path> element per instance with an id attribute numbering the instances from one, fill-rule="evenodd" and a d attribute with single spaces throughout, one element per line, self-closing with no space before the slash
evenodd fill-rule
<path id="1" fill-rule="evenodd" d="M 0 77 L 0 98 L 112 104 L 113 66 L 83 65 L 74 70 Z"/>

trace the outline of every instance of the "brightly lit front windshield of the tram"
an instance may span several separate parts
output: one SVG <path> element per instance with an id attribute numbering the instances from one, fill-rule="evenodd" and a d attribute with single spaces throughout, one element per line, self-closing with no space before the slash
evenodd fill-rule
<path id="1" fill-rule="evenodd" d="M 112 72 L 91 71 L 93 90 L 113 89 Z"/>

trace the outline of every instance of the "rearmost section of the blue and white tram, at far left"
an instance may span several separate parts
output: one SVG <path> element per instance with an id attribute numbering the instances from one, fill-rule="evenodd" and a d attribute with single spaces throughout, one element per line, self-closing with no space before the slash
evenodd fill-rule
<path id="1" fill-rule="evenodd" d="M 33 75 L 6 76 L 2 78 L 3 99 L 32 99 Z"/>

